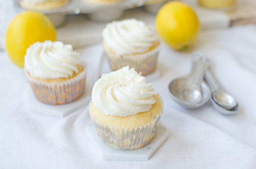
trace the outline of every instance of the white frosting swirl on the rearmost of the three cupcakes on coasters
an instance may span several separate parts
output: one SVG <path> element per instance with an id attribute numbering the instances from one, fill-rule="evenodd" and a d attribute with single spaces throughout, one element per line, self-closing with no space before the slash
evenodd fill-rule
<path id="1" fill-rule="evenodd" d="M 154 31 L 136 19 L 108 23 L 102 36 L 106 45 L 116 54 L 147 52 L 157 40 Z"/>

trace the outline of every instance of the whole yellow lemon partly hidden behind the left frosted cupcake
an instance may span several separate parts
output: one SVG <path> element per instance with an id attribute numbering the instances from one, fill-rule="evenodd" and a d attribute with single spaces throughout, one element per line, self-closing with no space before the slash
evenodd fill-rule
<path id="1" fill-rule="evenodd" d="M 51 20 L 44 14 L 26 11 L 18 14 L 6 34 L 6 51 L 17 66 L 23 67 L 26 49 L 35 42 L 55 41 L 57 33 Z"/>

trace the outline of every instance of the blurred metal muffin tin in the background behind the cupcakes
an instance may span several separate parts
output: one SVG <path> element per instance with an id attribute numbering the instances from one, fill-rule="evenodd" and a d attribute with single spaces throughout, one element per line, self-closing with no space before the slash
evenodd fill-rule
<path id="1" fill-rule="evenodd" d="M 125 9 L 133 9 L 140 6 L 147 6 L 145 10 L 155 14 L 161 4 L 169 0 L 123 0 L 119 3 L 103 5 L 92 4 L 84 0 L 70 0 L 67 5 L 56 9 L 40 11 L 47 14 L 55 26 L 61 26 L 67 14 L 88 14 L 88 17 L 94 21 L 111 21 L 122 17 Z M 20 0 L 14 0 L 14 5 L 17 11 L 25 11 L 20 6 Z"/>

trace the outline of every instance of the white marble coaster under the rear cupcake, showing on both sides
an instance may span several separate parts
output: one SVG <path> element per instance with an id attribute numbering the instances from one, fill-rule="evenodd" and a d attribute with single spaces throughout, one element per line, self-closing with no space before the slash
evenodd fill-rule
<path id="1" fill-rule="evenodd" d="M 102 76 L 102 74 L 110 73 L 112 72 L 111 67 L 108 63 L 108 58 L 105 56 L 105 54 L 102 54 L 101 63 L 99 64 L 99 78 Z M 160 72 L 158 70 L 158 66 L 156 67 L 156 70 L 152 72 L 151 74 L 145 75 L 147 83 L 151 83 L 154 80 L 157 80 L 160 77 Z"/>

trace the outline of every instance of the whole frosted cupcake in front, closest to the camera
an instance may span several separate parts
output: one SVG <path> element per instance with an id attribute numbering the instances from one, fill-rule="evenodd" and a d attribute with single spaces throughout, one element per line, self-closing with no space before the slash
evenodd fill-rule
<path id="1" fill-rule="evenodd" d="M 115 149 L 139 149 L 153 138 L 163 102 L 152 83 L 129 66 L 94 84 L 89 113 L 99 137 Z"/>

